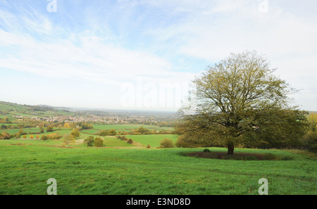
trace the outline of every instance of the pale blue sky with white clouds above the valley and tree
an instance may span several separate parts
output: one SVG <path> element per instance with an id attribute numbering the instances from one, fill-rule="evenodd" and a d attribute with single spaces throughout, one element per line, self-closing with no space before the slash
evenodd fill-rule
<path id="1" fill-rule="evenodd" d="M 230 53 L 257 51 L 317 110 L 317 1 L 0 0 L 0 101 L 168 110 Z"/>

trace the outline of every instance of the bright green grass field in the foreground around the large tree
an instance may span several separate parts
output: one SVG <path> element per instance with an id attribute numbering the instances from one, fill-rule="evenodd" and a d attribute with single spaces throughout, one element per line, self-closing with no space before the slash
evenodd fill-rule
<path id="1" fill-rule="evenodd" d="M 63 148 L 61 143 L 0 140 L 0 194 L 46 194 L 49 178 L 56 179 L 58 194 L 258 194 L 260 178 L 268 179 L 268 194 L 317 194 L 316 155 L 304 151 L 236 149 L 292 157 L 245 161 L 183 154 L 203 148 Z"/>

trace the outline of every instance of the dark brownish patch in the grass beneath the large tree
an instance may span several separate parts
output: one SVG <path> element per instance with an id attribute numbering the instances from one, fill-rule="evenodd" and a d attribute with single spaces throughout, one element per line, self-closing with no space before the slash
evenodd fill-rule
<path id="1" fill-rule="evenodd" d="M 278 158 L 273 154 L 258 154 L 258 153 L 234 153 L 232 156 L 228 156 L 226 152 L 194 152 L 186 153 L 186 156 L 196 158 L 210 158 L 220 160 L 291 160 Z"/>

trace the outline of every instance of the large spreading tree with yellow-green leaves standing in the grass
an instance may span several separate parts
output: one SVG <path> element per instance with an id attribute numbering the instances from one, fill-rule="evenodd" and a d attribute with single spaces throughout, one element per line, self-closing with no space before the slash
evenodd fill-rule
<path id="1" fill-rule="evenodd" d="M 256 51 L 231 53 L 209 66 L 193 81 L 195 109 L 178 125 L 181 141 L 226 146 L 228 155 L 237 144 L 296 144 L 304 134 L 305 113 L 291 106 L 294 89 L 273 75 L 275 70 Z"/>

